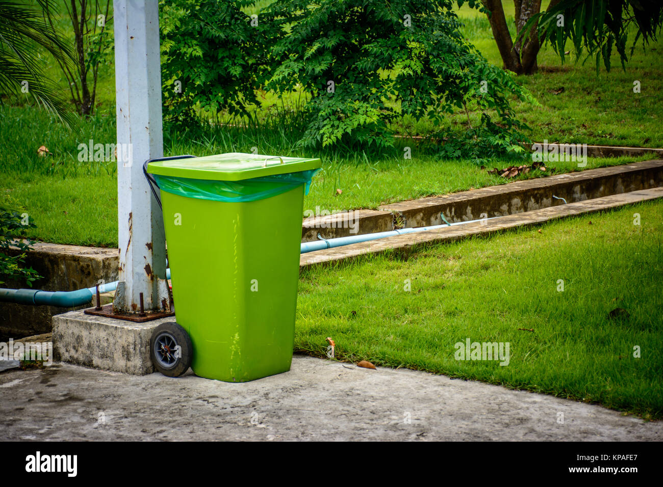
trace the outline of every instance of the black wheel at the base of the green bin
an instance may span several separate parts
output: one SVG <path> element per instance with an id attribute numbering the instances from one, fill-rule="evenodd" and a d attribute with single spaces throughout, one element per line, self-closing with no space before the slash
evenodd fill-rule
<path id="1" fill-rule="evenodd" d="M 174 321 L 162 323 L 152 332 L 152 364 L 164 376 L 179 377 L 184 374 L 191 366 L 192 355 L 193 347 L 189 334 Z"/>

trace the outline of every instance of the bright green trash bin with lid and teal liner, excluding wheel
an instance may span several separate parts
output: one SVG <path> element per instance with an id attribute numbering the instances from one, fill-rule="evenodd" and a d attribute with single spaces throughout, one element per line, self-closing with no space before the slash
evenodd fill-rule
<path id="1" fill-rule="evenodd" d="M 245 382 L 290 370 L 302 206 L 320 160 L 233 152 L 146 165 L 194 373 Z"/>

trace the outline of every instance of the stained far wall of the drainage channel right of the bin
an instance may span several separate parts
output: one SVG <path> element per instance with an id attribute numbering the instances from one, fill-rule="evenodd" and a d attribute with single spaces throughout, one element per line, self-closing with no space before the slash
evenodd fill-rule
<path id="1" fill-rule="evenodd" d="M 501 186 L 382 205 L 377 210 L 312 217 L 304 220 L 302 242 L 501 217 L 586 199 L 663 186 L 663 160 L 558 174 Z M 553 197 L 560 199 L 555 199 Z"/>

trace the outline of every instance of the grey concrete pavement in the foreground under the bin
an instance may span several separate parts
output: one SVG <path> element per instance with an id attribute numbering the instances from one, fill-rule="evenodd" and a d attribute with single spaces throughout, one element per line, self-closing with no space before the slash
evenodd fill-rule
<path id="1" fill-rule="evenodd" d="M 0 440 L 662 439 L 663 422 L 600 406 L 306 356 L 244 384 L 64 363 L 0 373 Z"/>

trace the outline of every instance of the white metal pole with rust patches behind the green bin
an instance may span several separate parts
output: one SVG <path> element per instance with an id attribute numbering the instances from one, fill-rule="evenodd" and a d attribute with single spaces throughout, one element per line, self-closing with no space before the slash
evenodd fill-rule
<path id="1" fill-rule="evenodd" d="M 163 156 L 158 0 L 114 0 L 119 284 L 115 312 L 168 302 L 160 209 L 143 162 Z"/>

